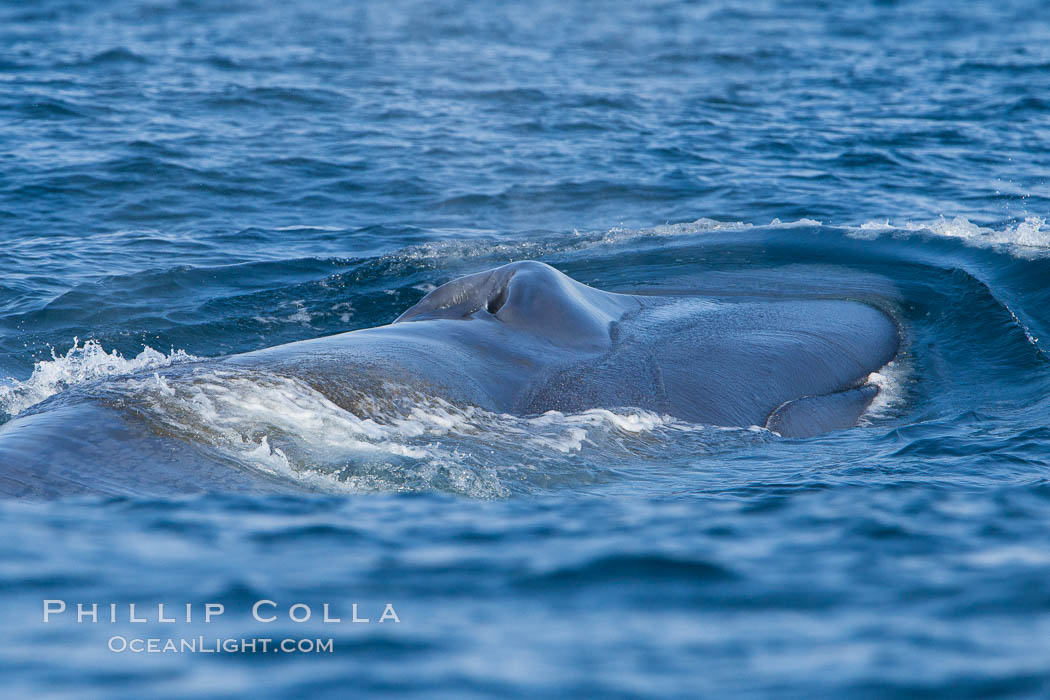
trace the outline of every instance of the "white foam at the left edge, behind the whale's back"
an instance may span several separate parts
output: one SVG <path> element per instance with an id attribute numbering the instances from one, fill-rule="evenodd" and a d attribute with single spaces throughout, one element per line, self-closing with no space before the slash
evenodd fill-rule
<path id="1" fill-rule="evenodd" d="M 74 338 L 72 347 L 65 355 L 57 355 L 52 347 L 51 359 L 37 362 L 25 381 L 13 379 L 0 384 L 0 408 L 8 416 L 16 416 L 77 384 L 196 359 L 181 349 L 165 355 L 149 346 L 143 347 L 135 357 L 125 359 L 117 351 L 106 353 L 97 340 L 87 340 L 81 345 L 80 339 Z"/>

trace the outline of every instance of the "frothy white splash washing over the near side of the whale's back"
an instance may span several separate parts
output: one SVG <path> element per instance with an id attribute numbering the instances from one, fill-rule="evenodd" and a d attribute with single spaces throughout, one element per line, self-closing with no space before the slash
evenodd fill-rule
<path id="1" fill-rule="evenodd" d="M 718 428 L 635 408 L 518 417 L 396 384 L 352 390 L 336 404 L 300 379 L 256 369 L 136 375 L 108 390 L 129 399 L 124 405 L 159 433 L 336 493 L 500 499 L 552 480 L 590 483 L 639 455 L 704 453 L 724 440 Z"/>

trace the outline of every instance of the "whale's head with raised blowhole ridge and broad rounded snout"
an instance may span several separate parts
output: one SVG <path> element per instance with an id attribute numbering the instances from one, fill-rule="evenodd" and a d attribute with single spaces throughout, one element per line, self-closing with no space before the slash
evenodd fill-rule
<path id="1" fill-rule="evenodd" d="M 857 301 L 613 294 L 536 261 L 447 282 L 398 324 L 511 367 L 497 382 L 510 412 L 630 405 L 796 437 L 854 425 L 900 345 Z"/>

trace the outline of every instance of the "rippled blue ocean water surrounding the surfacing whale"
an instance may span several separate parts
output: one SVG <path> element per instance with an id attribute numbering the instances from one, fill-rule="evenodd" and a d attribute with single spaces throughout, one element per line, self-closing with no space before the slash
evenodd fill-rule
<path id="1" fill-rule="evenodd" d="M 1046 697 L 1048 40 L 1035 0 L 4 3 L 3 420 L 518 259 L 904 336 L 812 439 L 420 404 L 364 440 L 218 382 L 210 448 L 329 494 L 0 503 L 5 693 Z M 196 635 L 334 652 L 107 648 Z"/>

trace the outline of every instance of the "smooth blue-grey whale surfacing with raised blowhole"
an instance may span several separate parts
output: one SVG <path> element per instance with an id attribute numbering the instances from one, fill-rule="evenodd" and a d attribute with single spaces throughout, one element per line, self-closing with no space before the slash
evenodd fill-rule
<path id="1" fill-rule="evenodd" d="M 616 293 L 518 261 L 436 288 L 386 325 L 153 369 L 300 381 L 361 412 L 391 385 L 458 406 L 536 416 L 636 407 L 783 439 L 850 428 L 901 347 L 892 316 L 835 298 Z M 0 426 L 0 493 L 164 496 L 295 491 L 145 420 L 112 379 L 78 385 Z M 206 427 L 206 426 L 205 426 Z"/>

